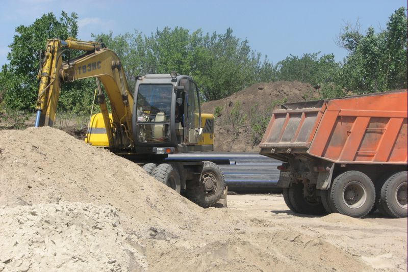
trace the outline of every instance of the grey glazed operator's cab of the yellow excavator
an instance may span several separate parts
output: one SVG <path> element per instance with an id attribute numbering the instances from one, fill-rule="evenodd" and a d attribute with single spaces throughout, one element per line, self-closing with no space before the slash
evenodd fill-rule
<path id="1" fill-rule="evenodd" d="M 200 143 L 204 130 L 199 93 L 190 76 L 175 73 L 140 76 L 134 98 L 133 135 L 137 153 L 170 154 L 213 149 L 212 142 Z M 205 118 L 213 120 L 212 115 Z M 206 131 L 213 133 L 212 129 Z"/>

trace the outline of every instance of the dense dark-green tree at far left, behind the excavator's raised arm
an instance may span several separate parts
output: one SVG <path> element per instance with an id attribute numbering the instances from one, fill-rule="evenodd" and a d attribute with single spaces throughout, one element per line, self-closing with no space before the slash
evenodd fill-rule
<path id="1" fill-rule="evenodd" d="M 47 39 L 77 37 L 77 19 L 75 13 L 68 15 L 61 12 L 60 18 L 53 13 L 47 13 L 29 26 L 20 25 L 16 28 L 17 34 L 9 45 L 9 63 L 2 67 L 0 76 L 3 103 L 6 107 L 33 110 L 38 92 L 39 51 L 45 48 Z M 71 57 L 79 53 L 74 52 Z M 84 107 L 89 103 L 86 100 L 92 97 L 92 94 L 86 92 L 92 89 L 90 85 L 89 80 L 64 84 L 60 96 L 61 110 L 84 111 Z"/>

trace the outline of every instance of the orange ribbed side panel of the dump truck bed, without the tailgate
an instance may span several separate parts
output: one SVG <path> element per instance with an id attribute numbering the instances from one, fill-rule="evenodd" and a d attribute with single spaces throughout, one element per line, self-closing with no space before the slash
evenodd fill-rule
<path id="1" fill-rule="evenodd" d="M 326 105 L 309 154 L 344 164 L 406 164 L 406 92 L 333 99 Z"/>

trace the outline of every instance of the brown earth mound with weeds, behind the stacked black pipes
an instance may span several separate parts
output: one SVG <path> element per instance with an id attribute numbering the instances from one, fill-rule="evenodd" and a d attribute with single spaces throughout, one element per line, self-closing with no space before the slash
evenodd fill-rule
<path id="1" fill-rule="evenodd" d="M 259 125 L 267 125 L 277 104 L 318 97 L 308 83 L 258 83 L 224 99 L 203 103 L 201 112 L 215 114 L 215 151 L 258 152 L 262 139 Z"/>

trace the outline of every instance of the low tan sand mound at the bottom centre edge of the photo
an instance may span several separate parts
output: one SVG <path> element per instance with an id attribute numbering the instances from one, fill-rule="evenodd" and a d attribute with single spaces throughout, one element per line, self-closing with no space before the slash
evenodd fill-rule
<path id="1" fill-rule="evenodd" d="M 226 239 L 225 239 L 226 238 Z M 222 239 L 222 238 L 221 238 Z M 352 257 L 322 239 L 295 229 L 273 228 L 271 232 L 247 232 L 245 229 L 202 247 L 183 247 L 165 251 L 153 270 L 169 267 L 173 258 L 182 259 L 186 252 L 185 271 L 369 271 L 362 259 Z M 349 263 L 353 268 L 349 268 Z M 176 271 L 176 269 L 170 269 Z"/>

